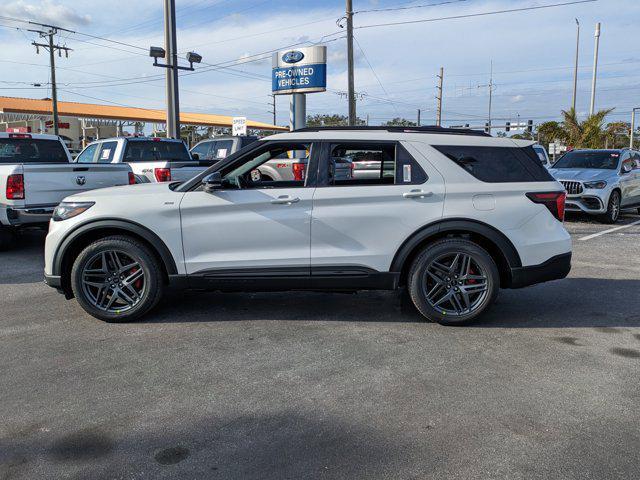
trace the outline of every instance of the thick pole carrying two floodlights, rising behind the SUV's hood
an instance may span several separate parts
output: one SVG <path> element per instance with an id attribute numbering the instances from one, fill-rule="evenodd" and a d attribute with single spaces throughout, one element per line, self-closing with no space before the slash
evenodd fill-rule
<path id="1" fill-rule="evenodd" d="M 164 0 L 164 48 L 167 61 L 167 138 L 180 138 L 178 98 L 178 47 L 176 42 L 176 2 Z"/>

